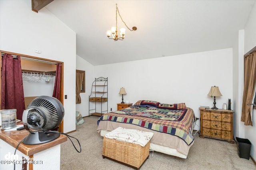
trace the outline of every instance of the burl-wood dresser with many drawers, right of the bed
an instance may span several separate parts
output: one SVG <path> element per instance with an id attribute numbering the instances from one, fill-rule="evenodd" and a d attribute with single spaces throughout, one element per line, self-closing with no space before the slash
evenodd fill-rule
<path id="1" fill-rule="evenodd" d="M 200 137 L 208 137 L 234 143 L 233 113 L 223 109 L 200 109 Z"/>

